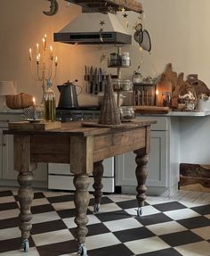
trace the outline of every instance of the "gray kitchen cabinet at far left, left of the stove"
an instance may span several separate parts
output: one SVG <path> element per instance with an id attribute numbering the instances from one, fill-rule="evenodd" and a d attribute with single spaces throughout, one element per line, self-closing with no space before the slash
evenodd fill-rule
<path id="1" fill-rule="evenodd" d="M 8 123 L 21 120 L 22 111 L 0 111 L 0 185 L 17 186 L 17 171 L 13 169 L 13 136 L 4 135 Z M 34 171 L 35 186 L 46 187 L 47 165 L 40 163 Z"/>

